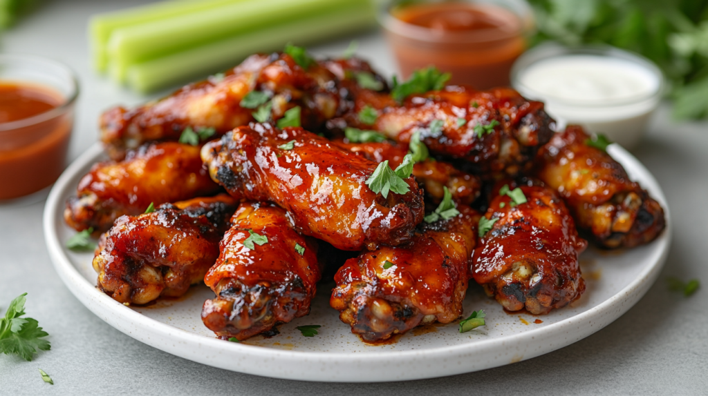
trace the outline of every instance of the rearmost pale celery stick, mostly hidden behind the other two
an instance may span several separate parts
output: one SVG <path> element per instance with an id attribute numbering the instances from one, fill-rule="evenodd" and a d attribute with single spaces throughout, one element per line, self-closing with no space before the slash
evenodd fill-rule
<path id="1" fill-rule="evenodd" d="M 89 20 L 89 42 L 93 66 L 105 71 L 108 64 L 106 45 L 113 30 L 164 20 L 246 0 L 173 0 L 128 8 L 92 16 Z"/>

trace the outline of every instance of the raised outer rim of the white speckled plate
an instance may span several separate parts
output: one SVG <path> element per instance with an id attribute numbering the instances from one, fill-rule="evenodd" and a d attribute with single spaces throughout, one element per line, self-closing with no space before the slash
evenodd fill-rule
<path id="1" fill-rule="evenodd" d="M 552 346 L 543 349 L 543 352 L 540 353 L 530 352 L 530 354 L 527 354 L 527 356 L 523 356 L 521 359 L 517 360 L 521 361 L 531 359 L 532 357 L 539 356 L 541 354 L 552 352 L 561 347 L 566 347 L 567 345 L 572 344 L 573 342 L 581 340 L 585 337 L 588 337 L 588 335 L 591 335 L 594 332 L 597 332 L 598 330 L 612 323 L 614 320 L 619 318 L 619 316 L 622 316 L 626 311 L 628 311 L 629 308 L 634 306 L 634 304 L 636 304 L 636 302 L 639 301 L 639 299 L 641 299 L 644 294 L 646 294 L 646 292 L 649 290 L 649 287 L 651 287 L 651 285 L 656 281 L 659 272 L 661 272 L 661 269 L 663 268 L 663 264 L 666 262 L 666 257 L 668 256 L 670 241 L 672 239 L 673 234 L 673 222 L 670 221 L 669 208 L 666 203 L 666 198 L 661 189 L 661 186 L 658 184 L 653 174 L 651 174 L 651 172 L 649 172 L 649 170 L 644 167 L 644 164 L 641 164 L 641 162 L 639 162 L 636 157 L 627 152 L 627 150 L 624 150 L 624 148 L 622 148 L 621 146 L 611 145 L 610 148 L 608 148 L 608 151 L 612 154 L 612 157 L 617 158 L 618 162 L 622 164 L 625 164 L 625 162 L 634 162 L 634 164 L 632 164 L 632 167 L 637 168 L 639 172 L 643 174 L 639 178 L 642 179 L 642 187 L 651 191 L 651 195 L 653 196 L 653 198 L 658 200 L 658 202 L 661 203 L 662 207 L 664 208 L 667 226 L 665 231 L 656 239 L 656 241 L 652 242 L 653 244 L 660 245 L 658 246 L 658 255 L 656 255 L 657 257 L 654 258 L 654 262 L 651 265 L 646 266 L 646 268 L 644 268 L 643 270 L 641 270 L 641 272 L 639 272 L 639 274 L 636 276 L 636 279 L 632 280 L 632 282 L 627 284 L 627 286 L 623 289 L 619 290 L 619 292 L 610 296 L 605 301 L 602 301 L 600 304 L 589 308 L 587 311 L 578 313 L 577 315 L 571 316 L 570 318 L 566 318 L 564 320 L 560 320 L 559 322 L 549 324 L 547 326 L 544 326 L 543 328 L 530 329 L 520 334 L 509 335 L 506 337 L 495 338 L 491 340 L 475 340 L 474 342 L 469 342 L 468 344 L 448 345 L 445 347 L 434 347 L 429 349 L 426 348 L 421 351 L 413 349 L 409 351 L 388 350 L 357 353 L 303 352 L 297 350 L 287 351 L 282 349 L 264 348 L 246 344 L 226 343 L 222 340 L 217 340 L 216 338 L 209 338 L 202 335 L 197 335 L 192 332 L 173 327 L 169 324 L 162 323 L 159 320 L 143 316 L 141 313 L 133 311 L 132 309 L 127 308 L 125 306 L 122 306 L 122 304 L 118 303 L 118 301 L 115 301 L 111 299 L 110 296 L 98 291 L 95 285 L 91 284 L 89 280 L 86 280 L 86 278 L 81 275 L 78 270 L 76 270 L 76 268 L 72 264 L 72 260 L 67 256 L 66 252 L 64 251 L 64 247 L 59 242 L 59 237 L 58 234 L 55 232 L 55 229 L 57 229 L 57 215 L 63 212 L 62 208 L 64 208 L 62 197 L 64 196 L 65 191 L 67 191 L 67 188 L 74 188 L 74 186 L 70 185 L 69 182 L 72 181 L 72 179 L 76 178 L 76 176 L 78 176 L 79 172 L 81 172 L 82 169 L 90 166 L 90 164 L 92 164 L 93 162 L 100 160 L 101 155 L 103 155 L 103 147 L 101 143 L 94 143 L 88 150 L 86 150 L 76 160 L 74 160 L 74 162 L 72 162 L 72 164 L 70 164 L 69 167 L 64 170 L 62 175 L 59 176 L 59 179 L 57 179 L 57 182 L 53 186 L 52 191 L 50 191 L 50 195 L 47 198 L 47 203 L 45 204 L 42 219 L 43 232 L 45 236 L 45 244 L 47 245 L 47 250 L 50 253 L 50 259 L 52 260 L 52 264 L 54 265 L 55 270 L 59 274 L 59 277 L 62 279 L 62 282 L 64 282 L 69 291 L 72 292 L 72 294 L 74 294 L 74 296 L 76 296 L 79 301 L 81 301 L 81 304 L 84 304 L 84 306 L 86 306 L 86 308 L 89 308 L 89 310 L 96 314 L 96 316 L 104 320 L 111 327 L 116 328 L 117 330 L 125 333 L 126 335 L 129 335 L 130 337 L 140 342 L 149 344 L 152 347 L 156 347 L 157 349 L 161 349 L 164 352 L 174 354 L 185 359 L 198 361 L 199 363 L 219 368 L 224 367 L 210 363 L 210 359 L 205 356 L 200 356 L 199 353 L 187 351 L 183 353 L 178 353 L 176 352 L 176 349 L 178 349 L 177 347 L 164 347 L 164 345 L 159 344 L 159 342 L 149 341 L 151 340 L 149 337 L 148 340 L 145 340 L 144 336 L 136 335 L 129 331 L 129 325 L 120 325 L 115 322 L 119 320 L 120 317 L 125 317 L 124 319 L 130 320 L 132 322 L 130 323 L 130 325 L 135 325 L 139 328 L 142 328 L 142 330 L 144 330 L 145 332 L 152 332 L 153 335 L 161 337 L 176 337 L 177 341 L 179 342 L 185 342 L 188 344 L 196 343 L 199 347 L 207 347 L 208 349 L 214 349 L 215 352 L 217 352 L 217 350 L 229 353 L 235 352 L 241 355 L 241 360 L 285 359 L 291 363 L 296 363 L 302 362 L 304 359 L 306 361 L 309 361 L 309 363 L 311 364 L 313 363 L 312 361 L 315 360 L 319 361 L 319 364 L 327 365 L 336 363 L 345 366 L 356 367 L 357 370 L 363 370 L 365 369 L 365 367 L 360 366 L 361 364 L 396 362 L 398 364 L 406 365 L 406 363 L 408 362 L 419 361 L 421 358 L 425 358 L 426 361 L 429 362 L 430 359 L 453 358 L 459 356 L 474 355 L 475 352 L 489 352 L 490 349 L 495 349 L 496 347 L 503 346 L 506 343 L 515 344 L 519 342 L 530 341 L 538 336 L 548 337 L 549 335 L 554 334 L 556 332 L 561 332 L 563 328 L 566 328 L 568 326 L 582 325 L 584 322 L 592 323 L 594 319 L 599 319 L 599 317 L 602 316 L 603 313 L 606 313 L 608 309 L 610 309 L 616 303 L 620 302 L 620 300 L 622 299 L 632 300 L 630 301 L 630 304 L 622 304 L 619 311 L 614 313 L 610 320 L 605 320 L 605 323 L 600 323 L 600 325 L 595 326 L 589 332 L 583 332 L 583 335 L 581 335 L 581 337 L 578 337 L 577 339 L 572 339 L 569 342 L 566 342 L 566 339 L 557 344 L 552 344 Z M 57 210 L 60 210 L 60 212 L 57 213 Z M 60 218 L 61 216 L 58 217 Z M 652 255 L 651 257 L 653 256 L 654 255 Z M 105 313 L 111 313 L 114 311 L 118 314 L 113 319 L 105 315 Z M 578 328 L 578 330 L 580 330 L 580 328 Z M 270 376 L 274 378 L 287 378 L 295 380 L 348 380 L 357 382 L 373 382 L 450 376 L 458 373 L 477 371 L 484 368 L 503 366 L 505 364 L 509 364 L 509 362 L 501 364 L 482 365 L 481 368 L 478 367 L 472 369 L 468 369 L 463 366 L 461 369 L 451 369 L 449 371 L 445 371 L 445 373 L 439 373 L 435 370 L 431 370 L 429 375 L 423 373 L 422 376 L 406 375 L 406 373 L 404 373 L 403 375 L 398 376 L 396 378 L 393 378 L 392 376 L 382 377 L 380 376 L 380 374 L 379 376 L 374 375 L 372 377 L 367 378 L 351 378 L 351 376 L 325 378 L 323 376 L 313 376 L 312 374 L 307 375 L 307 373 L 302 371 L 302 369 L 298 371 L 297 375 L 295 375 L 295 373 L 278 373 L 270 371 L 264 372 L 262 369 L 258 370 L 257 368 L 249 368 L 249 366 L 240 367 L 238 370 L 234 370 L 233 368 L 224 369 L 251 373 L 261 376 Z M 371 370 L 365 371 L 368 372 Z"/>

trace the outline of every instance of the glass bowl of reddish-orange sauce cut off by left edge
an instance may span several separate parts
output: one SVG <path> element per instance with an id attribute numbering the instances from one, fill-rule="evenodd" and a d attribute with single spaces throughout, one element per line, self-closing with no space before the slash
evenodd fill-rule
<path id="1" fill-rule="evenodd" d="M 62 174 L 78 95 L 64 64 L 0 54 L 0 204 L 41 200 Z"/>

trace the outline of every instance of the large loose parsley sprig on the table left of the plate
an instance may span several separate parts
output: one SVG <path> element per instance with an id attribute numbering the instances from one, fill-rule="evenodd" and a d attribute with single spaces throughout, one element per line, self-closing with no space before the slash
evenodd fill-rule
<path id="1" fill-rule="evenodd" d="M 47 332 L 39 327 L 33 318 L 20 318 L 25 314 L 25 296 L 23 293 L 12 300 L 7 307 L 4 318 L 0 318 L 0 352 L 9 355 L 16 354 L 26 361 L 32 360 L 37 349 L 48 351 L 50 343 L 42 340 Z"/>

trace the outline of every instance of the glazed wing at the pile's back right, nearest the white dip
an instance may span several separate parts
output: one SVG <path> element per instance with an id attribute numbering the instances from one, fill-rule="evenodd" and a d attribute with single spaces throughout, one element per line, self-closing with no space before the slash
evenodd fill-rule
<path id="1" fill-rule="evenodd" d="M 379 113 L 373 125 L 359 119 L 366 106 Z M 435 120 L 442 121 L 438 131 L 431 128 Z M 498 125 L 489 133 L 475 131 L 478 124 L 493 121 Z M 448 85 L 411 95 L 401 105 L 387 93 L 360 92 L 353 111 L 328 125 L 374 129 L 401 143 L 409 143 L 413 133 L 420 131 L 434 154 L 465 160 L 474 173 L 498 179 L 530 169 L 539 146 L 551 138 L 553 124 L 541 102 L 525 100 L 515 90 L 476 91 Z"/>

